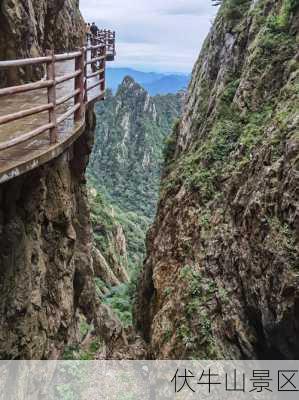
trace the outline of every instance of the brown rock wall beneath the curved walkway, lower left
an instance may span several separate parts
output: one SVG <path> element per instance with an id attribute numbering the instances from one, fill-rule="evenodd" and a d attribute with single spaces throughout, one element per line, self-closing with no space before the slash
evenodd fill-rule
<path id="1" fill-rule="evenodd" d="M 74 156 L 0 186 L 0 358 L 57 358 L 78 314 L 95 320 L 92 229 L 85 185 L 95 118 Z"/>

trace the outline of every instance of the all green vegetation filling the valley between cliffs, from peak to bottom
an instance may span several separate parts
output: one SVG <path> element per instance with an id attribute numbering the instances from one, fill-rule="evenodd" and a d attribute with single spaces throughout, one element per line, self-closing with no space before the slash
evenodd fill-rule
<path id="1" fill-rule="evenodd" d="M 125 327 L 132 325 L 145 234 L 158 200 L 163 141 L 180 114 L 181 98 L 182 94 L 150 98 L 126 78 L 115 96 L 108 92 L 106 101 L 96 107 L 98 125 L 88 168 L 95 244 L 108 264 L 112 259 L 122 264 L 111 246 L 111 234 L 121 225 L 130 275 L 128 284 L 113 288 L 97 278 L 96 287 Z"/>

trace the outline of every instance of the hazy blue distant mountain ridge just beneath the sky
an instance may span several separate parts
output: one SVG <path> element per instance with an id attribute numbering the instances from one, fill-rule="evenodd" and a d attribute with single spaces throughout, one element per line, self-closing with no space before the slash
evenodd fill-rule
<path id="1" fill-rule="evenodd" d="M 132 68 L 108 68 L 108 88 L 115 93 L 126 76 L 131 76 L 151 96 L 176 93 L 182 89 L 186 89 L 190 79 L 190 75 L 188 74 L 163 74 L 157 72 L 142 72 Z"/>

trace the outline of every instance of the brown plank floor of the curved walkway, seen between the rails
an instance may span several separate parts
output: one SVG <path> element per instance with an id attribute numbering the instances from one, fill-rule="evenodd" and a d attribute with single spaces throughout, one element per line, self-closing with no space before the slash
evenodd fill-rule
<path id="1" fill-rule="evenodd" d="M 115 39 L 114 33 L 113 38 Z M 50 129 L 48 129 L 29 140 L 9 145 L 6 148 L 6 144 L 11 144 L 14 140 L 18 140 L 18 138 L 28 134 L 28 132 L 49 124 L 49 121 L 51 121 L 49 109 L 21 119 L 14 119 L 8 123 L 0 123 L 0 183 L 13 179 L 57 157 L 66 151 L 82 134 L 85 128 L 85 107 L 89 103 L 103 100 L 105 96 L 105 82 L 103 82 L 103 79 L 105 79 L 105 63 L 109 59 L 112 61 L 115 55 L 115 42 L 111 40 L 111 36 L 108 39 L 109 41 L 105 42 L 106 51 L 103 62 L 98 60 L 91 64 L 92 60 L 97 59 L 99 56 L 98 49 L 94 50 L 90 46 L 90 50 L 85 51 L 85 76 L 84 82 L 81 82 L 80 92 L 78 90 L 77 77 L 55 85 L 57 100 L 70 97 L 67 101 L 54 107 L 57 121 L 57 137 L 55 141 L 51 140 Z M 93 41 L 93 45 L 95 43 L 99 42 Z M 98 47 L 101 49 L 100 45 Z M 76 63 L 76 58 L 56 62 L 55 79 L 59 81 L 60 78 L 74 73 L 77 69 L 76 67 L 78 67 Z M 102 72 L 101 70 L 99 71 L 101 68 Z M 76 88 L 77 95 L 74 95 Z M 9 115 L 15 115 L 18 112 L 25 112 L 40 106 L 47 107 L 50 103 L 48 88 L 3 96 L 1 96 L 1 90 L 5 89 L 0 89 L 0 121 L 1 117 L 6 118 Z M 81 93 L 82 91 L 83 93 Z M 78 119 L 76 118 L 74 106 L 78 104 L 79 108 L 80 95 L 82 96 L 81 102 L 84 101 L 84 104 L 81 104 L 83 114 Z M 59 123 L 59 119 L 64 120 Z"/>

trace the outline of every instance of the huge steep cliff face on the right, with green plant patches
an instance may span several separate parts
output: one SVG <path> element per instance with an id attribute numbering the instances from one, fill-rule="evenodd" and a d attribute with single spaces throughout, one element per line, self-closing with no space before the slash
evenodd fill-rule
<path id="1" fill-rule="evenodd" d="M 137 326 L 156 358 L 299 356 L 297 0 L 225 0 L 169 141 Z"/>

